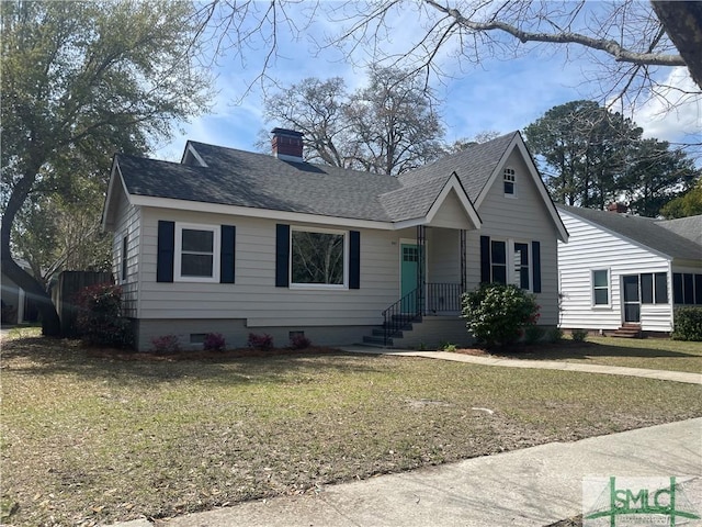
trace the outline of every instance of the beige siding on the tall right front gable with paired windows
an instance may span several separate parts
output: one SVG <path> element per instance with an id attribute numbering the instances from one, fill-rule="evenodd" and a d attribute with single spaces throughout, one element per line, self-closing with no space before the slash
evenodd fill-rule
<path id="1" fill-rule="evenodd" d="M 505 195 L 502 171 L 499 168 L 495 182 L 477 210 L 483 227 L 467 233 L 467 289 L 471 291 L 480 283 L 480 236 L 529 244 L 532 277 L 531 243 L 539 242 L 541 256 L 541 292 L 536 293 L 536 301 L 541 306 L 539 323 L 553 326 L 558 322 L 556 245 L 558 234 L 536 183 L 529 175 L 526 164 L 518 150 L 512 152 L 505 166 L 516 170 L 516 197 Z M 530 285 L 533 288 L 533 279 Z"/>

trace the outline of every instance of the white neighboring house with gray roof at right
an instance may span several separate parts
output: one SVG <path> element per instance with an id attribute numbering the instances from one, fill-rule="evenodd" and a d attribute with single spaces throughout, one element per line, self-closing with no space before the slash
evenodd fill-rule
<path id="1" fill-rule="evenodd" d="M 570 235 L 558 244 L 564 329 L 669 334 L 675 306 L 702 304 L 702 215 L 661 221 L 558 205 Z"/>

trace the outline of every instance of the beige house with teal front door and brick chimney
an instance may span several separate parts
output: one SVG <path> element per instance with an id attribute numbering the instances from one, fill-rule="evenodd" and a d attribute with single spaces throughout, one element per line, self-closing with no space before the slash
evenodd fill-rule
<path id="1" fill-rule="evenodd" d="M 537 294 L 556 325 L 567 233 L 519 133 L 400 177 L 305 162 L 294 131 L 275 128 L 272 150 L 115 156 L 103 226 L 138 349 L 207 333 L 460 344 L 460 295 L 490 280 Z M 398 333 L 408 319 L 421 323 Z"/>

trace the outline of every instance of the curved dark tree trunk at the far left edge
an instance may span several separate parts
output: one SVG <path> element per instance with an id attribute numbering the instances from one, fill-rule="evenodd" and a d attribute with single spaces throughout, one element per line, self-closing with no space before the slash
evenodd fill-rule
<path id="1" fill-rule="evenodd" d="M 38 280 L 12 259 L 12 253 L 10 251 L 12 223 L 29 195 L 36 178 L 34 176 L 37 170 L 29 170 L 26 173 L 30 173 L 30 176 L 25 176 L 14 186 L 8 200 L 8 206 L 2 215 L 2 226 L 0 227 L 0 268 L 10 280 L 24 290 L 27 298 L 36 302 L 36 307 L 42 317 L 42 333 L 49 337 L 59 337 L 61 324 L 56 307 L 52 302 L 52 296 Z"/>

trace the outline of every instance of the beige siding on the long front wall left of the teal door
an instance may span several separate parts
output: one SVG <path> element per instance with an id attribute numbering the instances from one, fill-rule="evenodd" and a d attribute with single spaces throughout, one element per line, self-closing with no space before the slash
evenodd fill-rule
<path id="1" fill-rule="evenodd" d="M 159 220 L 236 226 L 236 283 L 157 282 Z M 251 328 L 382 322 L 382 311 L 398 295 L 396 234 L 361 229 L 359 290 L 301 290 L 275 287 L 275 225 L 263 218 L 145 209 L 140 317 L 245 319 Z"/>

